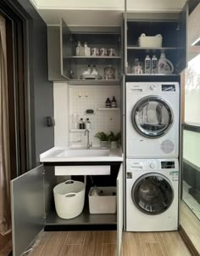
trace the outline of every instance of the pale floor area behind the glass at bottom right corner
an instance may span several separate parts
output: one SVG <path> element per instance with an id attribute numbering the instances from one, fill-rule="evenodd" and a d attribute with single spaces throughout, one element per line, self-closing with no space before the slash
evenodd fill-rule
<path id="1" fill-rule="evenodd" d="M 200 221 L 185 202 L 181 202 L 181 227 L 200 254 Z"/>

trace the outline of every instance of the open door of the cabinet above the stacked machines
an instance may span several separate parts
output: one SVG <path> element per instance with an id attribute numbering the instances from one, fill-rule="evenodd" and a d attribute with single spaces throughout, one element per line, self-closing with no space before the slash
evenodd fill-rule
<path id="1" fill-rule="evenodd" d="M 179 34 L 178 34 L 178 51 L 177 51 L 177 74 L 181 74 L 187 67 L 188 63 L 188 2 L 181 11 Z"/>

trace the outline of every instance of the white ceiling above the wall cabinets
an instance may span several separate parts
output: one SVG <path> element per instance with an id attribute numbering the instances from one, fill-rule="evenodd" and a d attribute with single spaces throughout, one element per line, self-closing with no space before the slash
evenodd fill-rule
<path id="1" fill-rule="evenodd" d="M 125 0 L 30 0 L 48 26 L 120 26 Z M 192 0 L 191 0 L 192 1 Z M 193 0 L 195 1 L 195 0 Z M 131 12 L 180 11 L 186 0 L 127 0 Z"/>

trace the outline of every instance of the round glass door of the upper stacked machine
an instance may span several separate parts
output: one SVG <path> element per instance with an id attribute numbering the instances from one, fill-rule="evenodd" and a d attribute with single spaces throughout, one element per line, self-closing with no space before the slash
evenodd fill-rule
<path id="1" fill-rule="evenodd" d="M 173 122 L 173 111 L 164 99 L 147 96 L 134 105 L 131 120 L 139 134 L 147 138 L 158 138 L 169 131 Z"/>

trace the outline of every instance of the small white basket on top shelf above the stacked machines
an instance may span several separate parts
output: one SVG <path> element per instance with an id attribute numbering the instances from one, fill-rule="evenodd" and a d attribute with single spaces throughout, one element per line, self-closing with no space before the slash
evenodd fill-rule
<path id="1" fill-rule="evenodd" d="M 161 48 L 163 37 L 158 34 L 155 37 L 147 37 L 145 34 L 142 34 L 139 37 L 139 47 L 153 47 L 153 48 Z"/>

